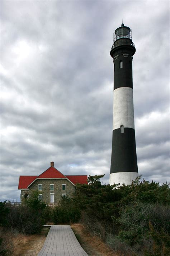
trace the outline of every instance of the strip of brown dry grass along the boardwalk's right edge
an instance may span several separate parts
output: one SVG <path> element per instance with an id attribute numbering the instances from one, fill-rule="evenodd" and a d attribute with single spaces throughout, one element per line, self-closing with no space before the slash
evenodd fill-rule
<path id="1" fill-rule="evenodd" d="M 91 235 L 82 224 L 72 224 L 77 239 L 89 256 L 119 256 L 115 254 L 99 237 Z"/>

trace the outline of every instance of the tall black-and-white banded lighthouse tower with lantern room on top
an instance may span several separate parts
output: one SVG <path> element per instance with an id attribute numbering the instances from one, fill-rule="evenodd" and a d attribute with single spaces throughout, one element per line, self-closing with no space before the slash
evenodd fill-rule
<path id="1" fill-rule="evenodd" d="M 110 55 L 114 63 L 113 138 L 109 184 L 131 184 L 138 176 L 134 133 L 131 29 L 115 30 Z"/>

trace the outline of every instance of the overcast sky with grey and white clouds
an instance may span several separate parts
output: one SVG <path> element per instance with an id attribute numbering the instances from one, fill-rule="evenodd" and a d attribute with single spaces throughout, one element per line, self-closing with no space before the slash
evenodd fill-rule
<path id="1" fill-rule="evenodd" d="M 105 174 L 112 148 L 114 30 L 132 29 L 138 170 L 169 182 L 169 1 L 0 1 L 0 199 L 54 161 Z"/>

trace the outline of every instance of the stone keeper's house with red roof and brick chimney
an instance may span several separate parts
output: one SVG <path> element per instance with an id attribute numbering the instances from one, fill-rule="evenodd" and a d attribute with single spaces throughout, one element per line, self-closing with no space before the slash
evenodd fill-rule
<path id="1" fill-rule="evenodd" d="M 77 183 L 88 184 L 88 176 L 63 175 L 51 162 L 51 167 L 39 176 L 20 176 L 18 189 L 21 190 L 21 202 L 29 198 L 31 191 L 38 190 L 39 200 L 57 204 L 61 197 L 72 196 Z"/>

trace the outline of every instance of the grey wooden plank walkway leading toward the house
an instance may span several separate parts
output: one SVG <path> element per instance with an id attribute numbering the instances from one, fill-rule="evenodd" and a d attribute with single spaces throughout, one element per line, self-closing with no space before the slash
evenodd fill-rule
<path id="1" fill-rule="evenodd" d="M 52 225 L 38 256 L 88 256 L 69 225 Z"/>

